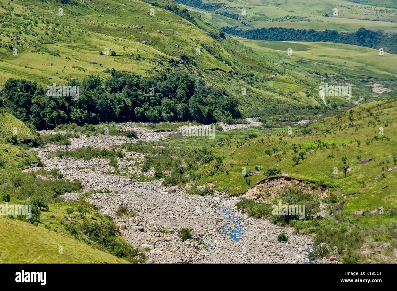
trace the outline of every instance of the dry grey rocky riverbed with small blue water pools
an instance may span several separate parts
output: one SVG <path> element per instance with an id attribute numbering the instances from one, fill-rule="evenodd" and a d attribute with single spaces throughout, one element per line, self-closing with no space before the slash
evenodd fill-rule
<path id="1" fill-rule="evenodd" d="M 133 129 L 142 140 L 160 140 L 169 132 L 154 132 L 137 124 L 123 124 Z M 48 132 L 50 133 L 50 132 Z M 113 144 L 134 142 L 123 136 L 98 135 L 71 138 L 69 149 L 95 145 L 108 148 Z M 293 228 L 281 227 L 265 219 L 249 218 L 235 209 L 236 200 L 217 192 L 214 195 L 192 195 L 184 189 L 166 189 L 161 180 L 134 182 L 112 174 L 106 159 L 89 161 L 48 157 L 50 151 L 66 146 L 47 145 L 35 149 L 47 169 L 62 170 L 65 179 L 81 180 L 84 191 L 108 189 L 111 193 L 93 193 L 86 200 L 102 214 L 109 214 L 119 226 L 121 235 L 135 247 L 145 249 L 147 263 L 306 263 L 312 248 L 310 237 L 293 234 Z M 139 173 L 135 167 L 141 153 L 125 153 L 119 167 Z M 31 170 L 31 169 L 29 169 Z M 81 193 L 67 193 L 64 199 L 77 199 Z M 119 205 L 128 205 L 136 216 L 118 218 Z M 194 239 L 182 242 L 178 231 L 191 227 Z M 277 241 L 284 232 L 287 242 Z M 324 258 L 318 262 L 331 262 Z"/>

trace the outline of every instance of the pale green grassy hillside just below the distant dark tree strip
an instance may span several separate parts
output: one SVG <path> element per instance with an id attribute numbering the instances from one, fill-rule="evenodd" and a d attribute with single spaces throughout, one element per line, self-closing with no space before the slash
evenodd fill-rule
<path id="1" fill-rule="evenodd" d="M 385 52 L 380 56 L 378 50 L 350 44 L 235 39 L 288 70 L 329 84 L 351 84 L 355 101 L 363 99 L 368 102 L 396 96 L 397 70 L 394 68 L 397 56 L 394 54 Z M 288 48 L 292 49 L 291 56 L 286 54 Z M 388 90 L 373 92 L 376 87 Z"/>

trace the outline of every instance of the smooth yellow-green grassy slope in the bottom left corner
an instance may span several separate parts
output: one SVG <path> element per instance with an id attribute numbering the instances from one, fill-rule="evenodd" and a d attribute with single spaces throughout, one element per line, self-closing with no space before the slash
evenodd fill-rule
<path id="1" fill-rule="evenodd" d="M 70 237 L 16 219 L 1 216 L 0 231 L 2 264 L 129 263 Z"/>

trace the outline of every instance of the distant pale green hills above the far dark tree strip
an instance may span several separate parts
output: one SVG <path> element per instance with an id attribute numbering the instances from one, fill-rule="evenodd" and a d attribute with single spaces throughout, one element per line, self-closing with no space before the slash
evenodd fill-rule
<path id="1" fill-rule="evenodd" d="M 379 1 L 365 1 L 365 3 L 362 1 L 362 4 L 341 0 L 326 2 L 321 0 L 310 2 L 297 0 L 286 0 L 283 2 L 278 0 L 253 0 L 249 3 L 243 0 L 177 0 L 177 2 L 196 8 L 201 7 L 201 11 L 197 9 L 196 11 L 204 19 L 220 27 L 225 26 L 225 24 L 228 26 L 242 26 L 241 23 L 244 22 L 245 25 L 254 28 L 286 27 L 294 29 L 357 31 L 360 27 L 364 27 L 372 30 L 381 29 L 386 32 L 397 32 L 397 27 L 391 22 L 397 18 L 397 9 L 377 7 L 376 5 Z M 206 7 L 202 4 L 209 3 L 221 4 L 221 6 L 219 8 L 215 6 L 212 9 L 203 9 Z M 243 16 L 241 13 L 243 8 L 247 11 L 246 16 Z M 338 10 L 338 15 L 333 15 L 334 8 Z M 202 12 L 205 10 L 206 12 Z M 229 15 L 225 14 L 225 12 L 229 13 Z"/>

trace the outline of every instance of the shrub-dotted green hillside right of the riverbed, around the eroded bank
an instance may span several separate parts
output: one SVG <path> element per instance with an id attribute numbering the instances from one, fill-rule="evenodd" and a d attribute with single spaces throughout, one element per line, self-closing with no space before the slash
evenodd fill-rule
<path id="1" fill-rule="evenodd" d="M 311 203 L 322 203 L 326 214 L 324 218 L 290 223 L 297 231 L 315 234 L 319 255 L 328 254 L 321 253 L 321 244 L 326 243 L 329 250 L 339 248 L 344 262 L 393 262 L 397 246 L 396 105 L 396 99 L 358 105 L 296 128 L 291 134 L 288 128 L 272 133 L 249 128 L 217 132 L 214 140 L 175 135 L 158 145 L 207 146 L 211 157 L 203 157 L 200 165 L 187 173 L 197 185 L 212 190 L 244 193 L 272 172 L 297 178 L 313 189 Z M 364 159 L 371 160 L 358 164 Z M 346 173 L 344 169 L 348 169 Z M 245 178 L 245 172 L 254 174 Z M 279 190 L 280 197 L 293 191 Z M 272 191 L 278 191 L 277 187 Z M 265 200 L 274 198 L 266 192 L 261 195 Z M 253 203 L 237 206 L 255 217 L 269 216 L 268 204 Z M 370 214 L 374 210 L 377 213 Z M 363 215 L 351 215 L 354 211 Z"/>

